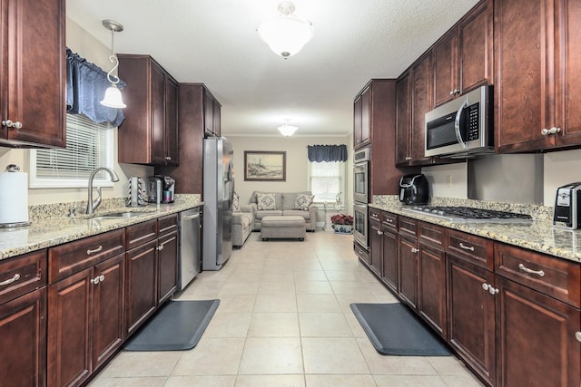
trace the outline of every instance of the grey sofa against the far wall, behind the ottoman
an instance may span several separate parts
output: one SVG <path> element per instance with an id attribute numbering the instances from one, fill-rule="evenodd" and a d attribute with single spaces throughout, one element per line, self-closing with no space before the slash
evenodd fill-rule
<path id="1" fill-rule="evenodd" d="M 271 209 L 264 209 L 259 206 L 259 195 L 273 194 L 274 203 Z M 310 197 L 312 200 L 312 193 L 310 191 L 300 192 L 262 192 L 254 191 L 251 195 L 250 206 L 254 208 L 254 230 L 260 231 L 261 219 L 268 216 L 299 216 L 305 219 L 305 226 L 307 231 L 314 232 L 317 229 L 317 212 L 319 209 L 312 202 L 303 202 L 302 205 L 307 205 L 303 209 L 297 209 L 297 198 L 301 194 L 301 198 Z"/>

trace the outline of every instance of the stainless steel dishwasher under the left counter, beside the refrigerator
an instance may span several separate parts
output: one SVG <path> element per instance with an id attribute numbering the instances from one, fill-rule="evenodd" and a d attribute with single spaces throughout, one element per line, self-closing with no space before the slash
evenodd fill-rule
<path id="1" fill-rule="evenodd" d="M 192 208 L 180 213 L 180 256 L 178 290 L 192 282 L 202 268 L 202 250 L 200 246 L 200 227 L 202 211 Z"/>

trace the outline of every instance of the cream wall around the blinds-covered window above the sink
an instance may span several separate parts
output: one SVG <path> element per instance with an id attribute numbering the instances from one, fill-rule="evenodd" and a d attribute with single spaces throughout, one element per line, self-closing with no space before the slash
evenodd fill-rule
<path id="1" fill-rule="evenodd" d="M 111 48 L 98 42 L 78 24 L 66 19 L 66 46 L 74 53 L 78 53 L 87 61 L 92 62 L 108 71 Z M 117 155 L 117 129 L 114 133 L 114 154 Z M 8 164 L 20 166 L 24 172 L 30 171 L 29 151 L 10 148 L 0 148 L 0 169 Z M 112 188 L 103 188 L 103 198 L 120 198 L 127 195 L 127 180 L 131 176 L 148 176 L 153 174 L 153 167 L 122 164 L 114 162 L 115 172 L 119 175 L 119 182 L 113 183 Z M 82 201 L 87 199 L 86 189 L 28 189 L 28 204 L 46 204 L 58 202 Z"/>

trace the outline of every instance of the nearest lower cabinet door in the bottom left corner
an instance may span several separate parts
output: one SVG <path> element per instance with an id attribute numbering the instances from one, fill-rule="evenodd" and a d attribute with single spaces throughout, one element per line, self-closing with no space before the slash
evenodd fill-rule
<path id="1" fill-rule="evenodd" d="M 46 288 L 0 305 L 0 375 L 11 387 L 46 385 Z M 8 384 L 6 384 L 8 385 Z"/>

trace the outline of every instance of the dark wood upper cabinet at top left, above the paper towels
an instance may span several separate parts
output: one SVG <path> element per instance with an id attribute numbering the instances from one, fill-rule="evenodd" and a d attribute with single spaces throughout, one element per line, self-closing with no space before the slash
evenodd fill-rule
<path id="1" fill-rule="evenodd" d="M 0 0 L 0 145 L 65 147 L 64 0 Z"/>

